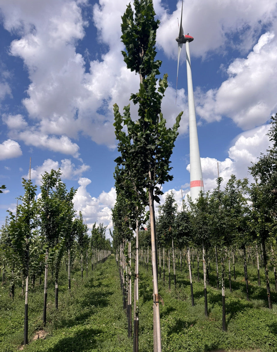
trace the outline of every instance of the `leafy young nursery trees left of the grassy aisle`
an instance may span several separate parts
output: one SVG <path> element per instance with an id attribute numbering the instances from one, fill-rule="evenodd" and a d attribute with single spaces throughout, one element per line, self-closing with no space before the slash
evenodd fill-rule
<path id="1" fill-rule="evenodd" d="M 24 195 L 18 198 L 15 214 L 9 211 L 0 230 L 0 272 L 2 284 L 9 283 L 9 294 L 14 299 L 15 286 L 21 285 L 25 294 L 24 344 L 28 343 L 29 280 L 34 288 L 36 280 L 44 282 L 43 325 L 46 324 L 48 272 L 55 281 L 55 307 L 58 309 L 58 281 L 61 264 L 66 263 L 68 289 L 71 289 L 70 271 L 74 261 L 80 262 L 88 275 L 111 252 L 111 243 L 105 238 L 106 227 L 93 225 L 91 235 L 84 224 L 82 213 L 76 216 L 73 197 L 61 180 L 60 170 L 42 175 L 40 195 L 37 186 L 23 178 Z M 43 280 L 44 276 L 44 280 Z"/>

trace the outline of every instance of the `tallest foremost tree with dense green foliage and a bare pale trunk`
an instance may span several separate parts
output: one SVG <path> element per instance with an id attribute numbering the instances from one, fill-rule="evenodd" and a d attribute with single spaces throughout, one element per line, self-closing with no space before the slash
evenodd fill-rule
<path id="1" fill-rule="evenodd" d="M 158 89 L 157 78 L 160 74 L 161 61 L 156 60 L 156 31 L 159 20 L 155 20 L 152 0 L 134 0 L 135 13 L 131 5 L 122 16 L 122 42 L 126 51 L 122 51 L 127 68 L 139 74 L 139 92 L 131 95 L 134 104 L 138 104 L 138 120 L 131 119 L 130 105 L 119 113 L 114 105 L 115 134 L 119 141 L 120 156 L 118 165 L 127 169 L 127 176 L 136 184 L 137 189 L 148 191 L 150 207 L 152 268 L 153 268 L 153 312 L 154 312 L 154 349 L 161 351 L 159 294 L 157 279 L 157 244 L 155 231 L 154 200 L 159 201 L 160 186 L 172 180 L 169 175 L 169 158 L 178 135 L 182 113 L 177 117 L 173 128 L 166 128 L 161 113 L 161 102 L 167 83 L 167 75 L 160 78 Z M 123 127 L 126 125 L 127 133 Z"/>

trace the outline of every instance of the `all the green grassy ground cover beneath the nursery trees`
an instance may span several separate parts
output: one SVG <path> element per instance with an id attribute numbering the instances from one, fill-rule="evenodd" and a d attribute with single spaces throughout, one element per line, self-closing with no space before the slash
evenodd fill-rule
<path id="1" fill-rule="evenodd" d="M 267 308 L 266 290 L 257 285 L 256 269 L 248 266 L 250 301 L 246 301 L 243 266 L 236 264 L 237 278 L 232 280 L 233 292 L 226 281 L 227 332 L 221 329 L 221 290 L 217 290 L 213 264 L 209 276 L 208 317 L 204 315 L 203 282 L 197 282 L 193 269 L 195 306 L 191 307 L 187 268 L 177 270 L 177 288 L 173 275 L 171 290 L 168 282 L 159 280 L 163 351 L 206 352 L 277 351 L 277 295 L 272 293 L 273 309 Z M 262 270 L 261 270 L 262 272 Z M 89 271 L 88 278 L 72 272 L 71 292 L 67 290 L 67 273 L 63 267 L 59 284 L 59 309 L 54 306 L 54 286 L 49 280 L 45 338 L 33 340 L 42 328 L 43 287 L 30 289 L 29 345 L 26 352 L 94 352 L 132 351 L 127 338 L 126 314 L 122 309 L 120 280 L 114 257 Z M 153 351 L 152 278 L 140 267 L 139 282 L 139 351 Z M 263 281 L 264 277 L 261 277 Z M 271 273 L 271 288 L 274 289 Z M 8 297 L 6 285 L 0 296 L 0 352 L 15 352 L 23 342 L 24 297 L 15 291 L 14 302 Z"/>

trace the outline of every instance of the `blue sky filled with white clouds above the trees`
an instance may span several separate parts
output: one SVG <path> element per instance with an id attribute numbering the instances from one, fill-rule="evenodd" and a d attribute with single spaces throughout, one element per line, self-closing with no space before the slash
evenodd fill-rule
<path id="1" fill-rule="evenodd" d="M 177 104 L 177 42 L 181 1 L 153 1 L 160 27 L 157 58 L 169 87 L 162 104 L 168 126 L 184 111 L 172 154 L 173 190 L 189 192 L 189 139 L 185 50 Z M 126 69 L 120 42 L 128 0 L 2 0 L 0 3 L 0 224 L 15 210 L 29 173 L 61 168 L 75 208 L 89 227 L 112 226 L 115 102 L 123 110 L 139 77 Z M 184 1 L 205 190 L 216 186 L 217 163 L 226 183 L 248 176 L 248 166 L 269 146 L 277 107 L 277 10 L 264 0 Z M 131 105 L 133 119 L 136 107 Z M 38 188 L 39 193 L 39 188 Z M 164 196 L 162 197 L 162 202 Z"/>

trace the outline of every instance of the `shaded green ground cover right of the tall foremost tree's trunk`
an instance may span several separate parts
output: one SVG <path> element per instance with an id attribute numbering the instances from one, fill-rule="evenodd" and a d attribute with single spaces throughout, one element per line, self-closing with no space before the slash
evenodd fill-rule
<path id="1" fill-rule="evenodd" d="M 140 269 L 144 279 L 142 297 L 148 299 L 146 287 L 151 285 L 149 272 Z M 171 276 L 171 290 L 166 281 L 159 280 L 159 293 L 164 306 L 160 306 L 163 351 L 204 352 L 214 350 L 226 351 L 277 351 L 277 294 L 274 275 L 270 273 L 271 297 L 273 309 L 267 308 L 267 295 L 264 281 L 257 284 L 256 268 L 248 265 L 250 301 L 246 300 L 244 269 L 236 264 L 236 280 L 232 279 L 233 291 L 229 291 L 228 279 L 225 282 L 226 325 L 227 332 L 222 331 L 222 296 L 221 289 L 216 289 L 215 266 L 211 264 L 210 285 L 207 287 L 208 317 L 204 315 L 203 275 L 197 282 L 197 270 L 193 269 L 193 287 L 195 306 L 191 307 L 190 284 L 187 267 L 177 270 L 177 288 L 174 288 Z M 163 275 L 162 275 L 163 277 Z M 264 275 L 261 270 L 261 280 Z"/>

